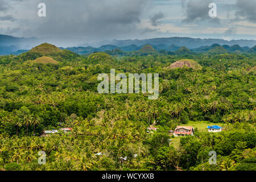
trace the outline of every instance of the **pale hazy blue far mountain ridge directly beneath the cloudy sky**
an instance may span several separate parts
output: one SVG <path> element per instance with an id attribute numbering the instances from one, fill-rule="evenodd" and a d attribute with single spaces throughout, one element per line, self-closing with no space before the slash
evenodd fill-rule
<path id="1" fill-rule="evenodd" d="M 0 55 L 19 55 L 26 52 L 27 49 L 38 46 L 44 43 L 43 39 L 39 38 L 15 38 L 8 35 L 0 35 Z M 51 43 L 51 42 L 50 42 Z M 53 43 L 54 44 L 54 43 Z M 84 43 L 77 47 L 67 47 L 70 51 L 85 54 L 92 52 L 112 51 L 120 49 L 121 51 L 138 51 L 145 45 L 151 45 L 157 51 L 177 51 L 181 47 L 190 49 L 193 52 L 205 52 L 215 47 L 216 51 L 227 52 L 254 52 L 253 48 L 256 45 L 256 40 L 223 40 L 223 39 L 200 39 L 200 38 L 154 38 L 144 40 L 111 40 L 98 43 Z M 58 45 L 57 45 L 58 46 Z M 97 47 L 98 46 L 98 47 Z M 220 48 L 223 46 L 224 49 Z M 64 49 L 61 47 L 61 49 Z"/>

